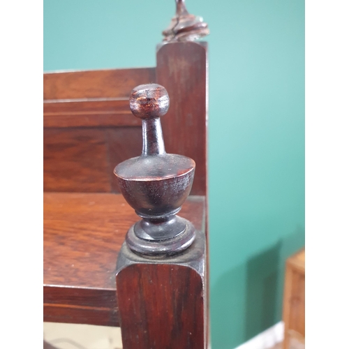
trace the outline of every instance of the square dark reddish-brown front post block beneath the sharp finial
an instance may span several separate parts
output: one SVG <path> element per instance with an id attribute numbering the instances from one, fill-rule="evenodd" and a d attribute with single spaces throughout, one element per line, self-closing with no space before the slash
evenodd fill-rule
<path id="1" fill-rule="evenodd" d="M 117 262 L 124 349 L 207 348 L 205 232 L 184 253 L 149 260 L 126 244 Z"/>

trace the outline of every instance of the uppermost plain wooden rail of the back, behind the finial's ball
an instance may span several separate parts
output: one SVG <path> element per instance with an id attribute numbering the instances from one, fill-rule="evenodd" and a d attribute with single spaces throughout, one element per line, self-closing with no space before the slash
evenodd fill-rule
<path id="1" fill-rule="evenodd" d="M 128 98 L 133 87 L 155 82 L 155 68 L 45 73 L 44 99 Z"/>

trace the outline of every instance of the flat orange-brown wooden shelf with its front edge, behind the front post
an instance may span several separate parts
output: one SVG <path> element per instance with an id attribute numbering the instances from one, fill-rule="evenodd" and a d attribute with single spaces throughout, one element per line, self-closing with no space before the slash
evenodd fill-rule
<path id="1" fill-rule="evenodd" d="M 205 198 L 180 216 L 205 224 Z M 117 255 L 139 217 L 122 195 L 44 193 L 44 320 L 118 326 Z"/>

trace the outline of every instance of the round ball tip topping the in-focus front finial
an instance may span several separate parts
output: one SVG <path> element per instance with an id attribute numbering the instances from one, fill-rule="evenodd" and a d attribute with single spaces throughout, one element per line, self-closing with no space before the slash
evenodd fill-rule
<path id="1" fill-rule="evenodd" d="M 135 117 L 154 119 L 168 112 L 170 98 L 165 87 L 159 84 L 142 84 L 135 87 L 130 96 L 130 108 Z"/>

